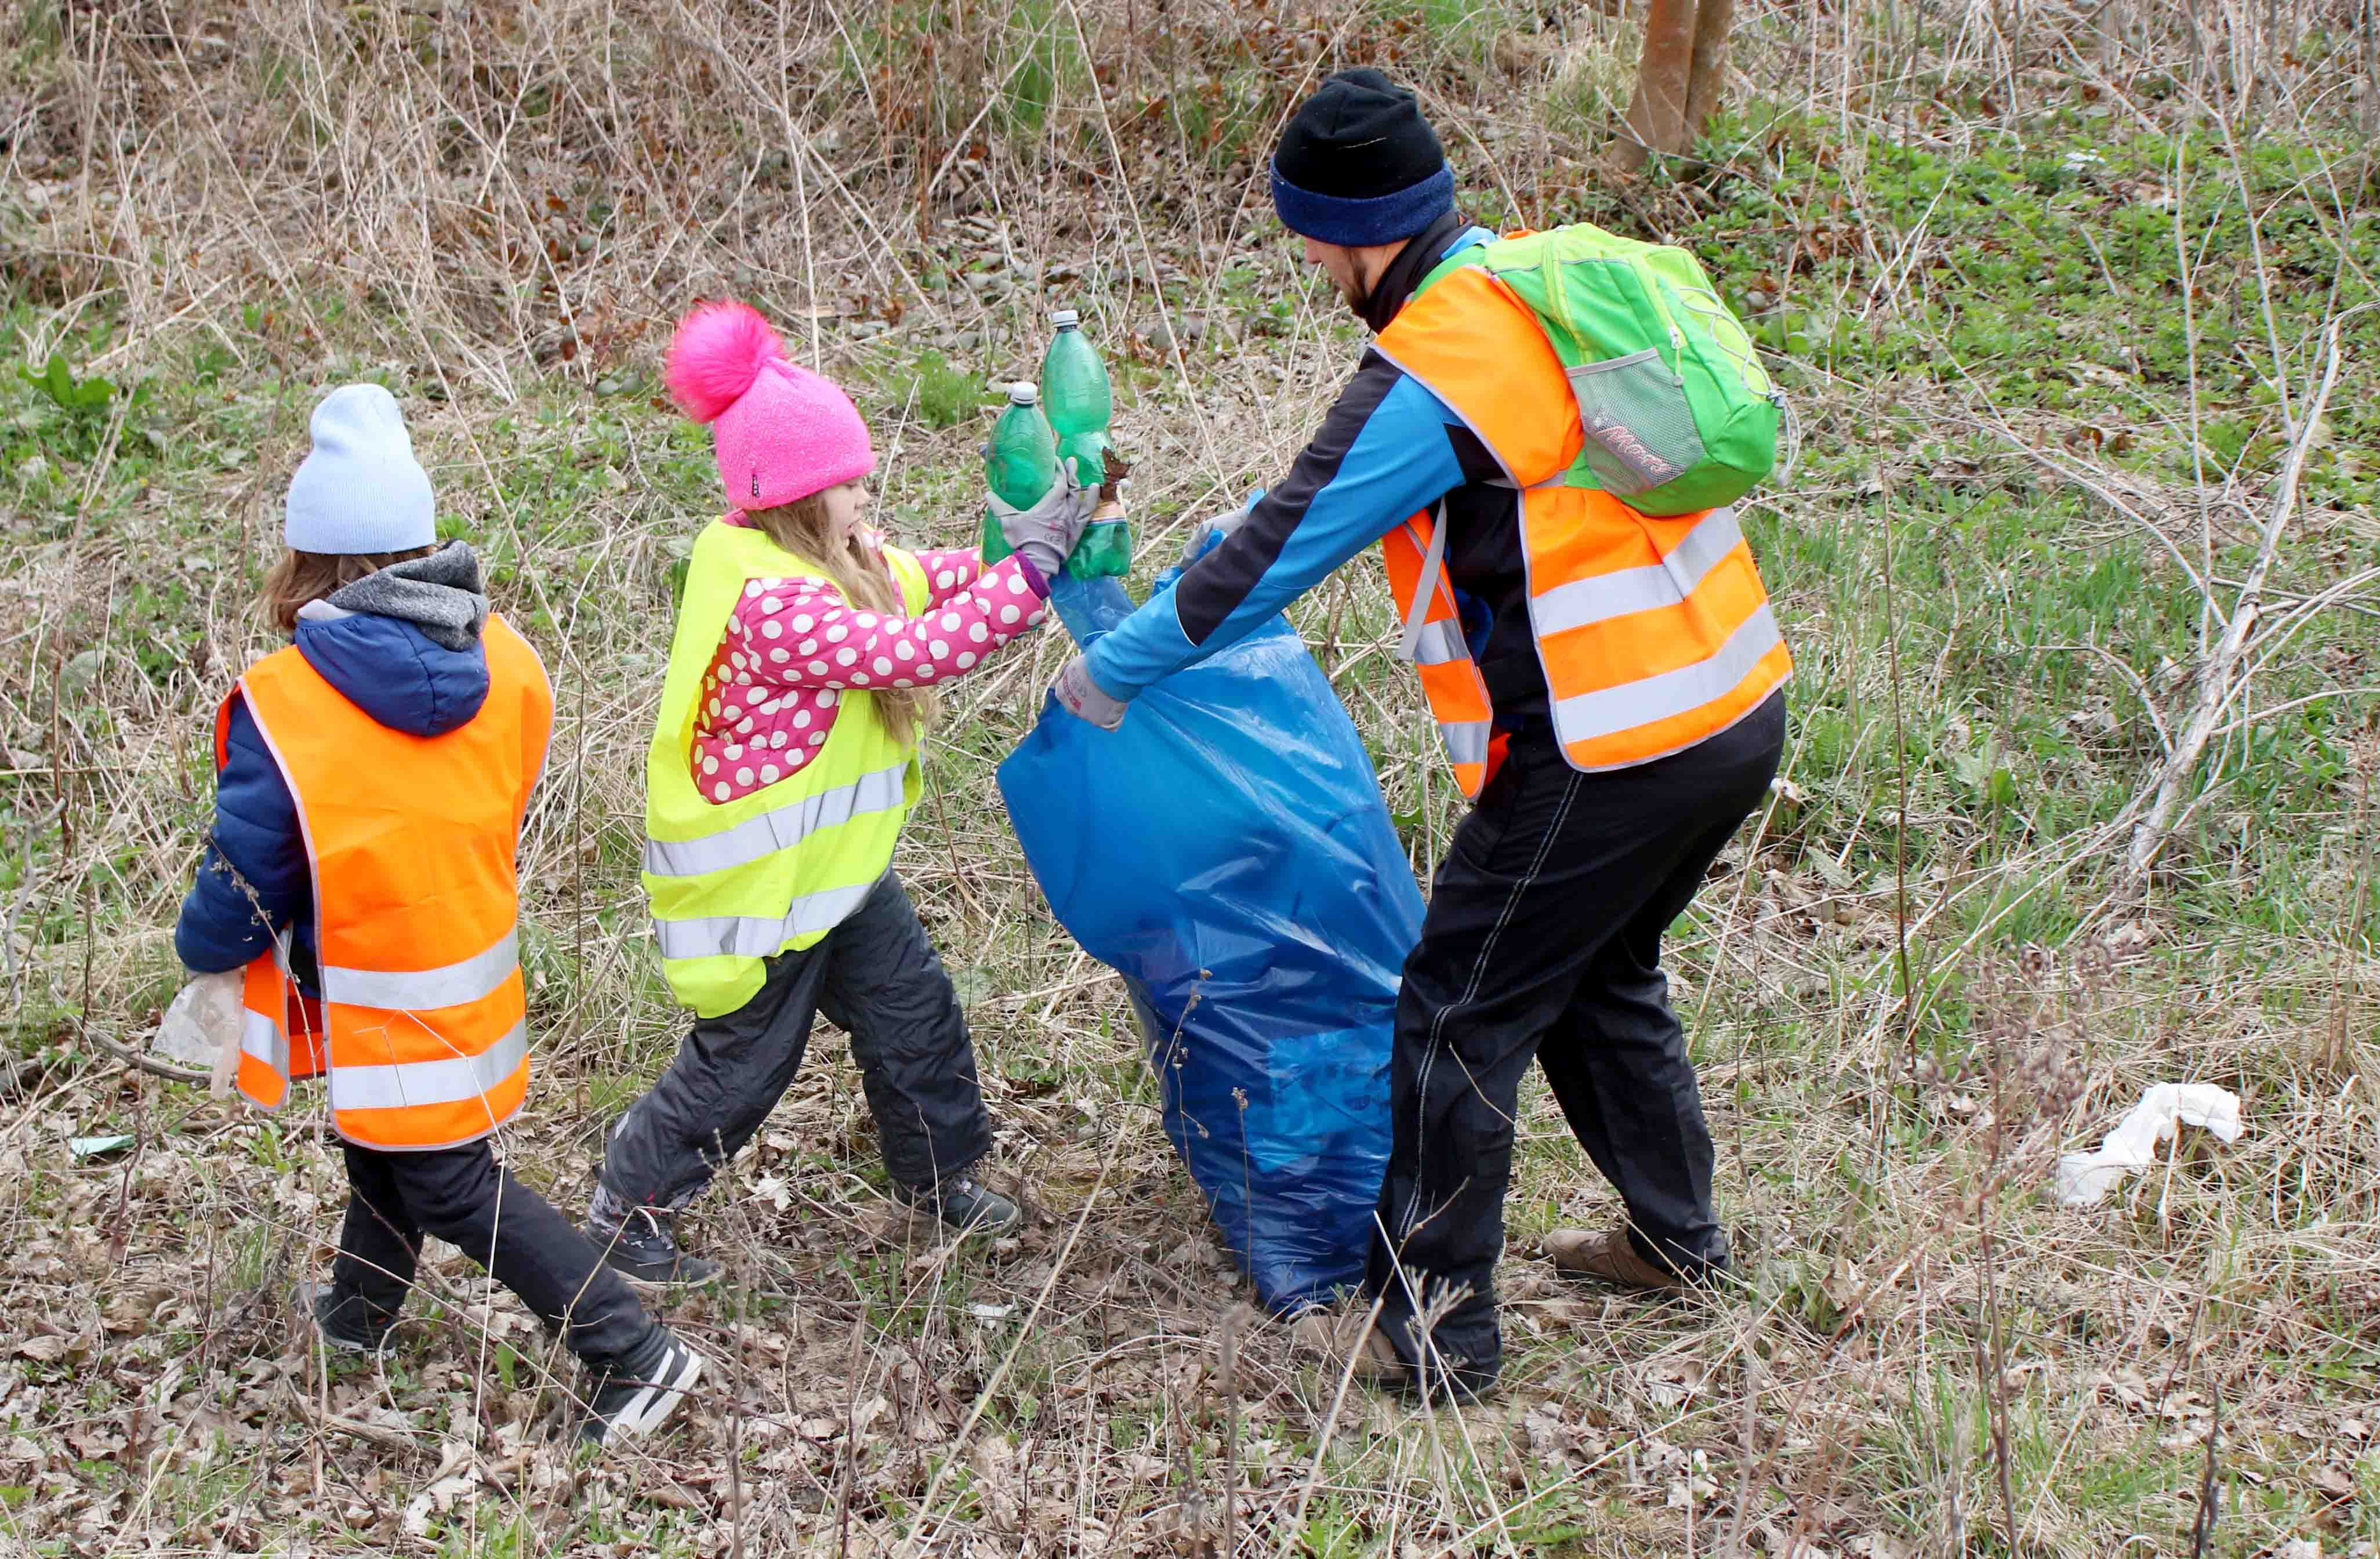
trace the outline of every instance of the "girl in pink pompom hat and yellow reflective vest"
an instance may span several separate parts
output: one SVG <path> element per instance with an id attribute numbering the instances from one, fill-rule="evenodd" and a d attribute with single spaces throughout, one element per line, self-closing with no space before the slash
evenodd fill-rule
<path id="1" fill-rule="evenodd" d="M 1061 486 L 1000 507 L 1016 552 L 904 552 L 864 524 L 866 424 L 747 305 L 678 326 L 669 388 L 709 424 L 733 512 L 695 540 L 645 759 L 645 893 L 695 1021 L 612 1133 L 588 1233 L 612 1266 L 700 1283 L 676 1214 L 759 1131 L 823 1012 L 852 1035 L 895 1195 L 957 1231 L 1016 1204 L 959 997 L 892 874 L 935 690 L 1042 621 L 1090 516 Z"/>

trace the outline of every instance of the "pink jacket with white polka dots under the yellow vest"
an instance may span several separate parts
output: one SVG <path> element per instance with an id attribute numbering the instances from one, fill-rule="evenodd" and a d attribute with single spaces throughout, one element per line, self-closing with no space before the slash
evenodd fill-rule
<path id="1" fill-rule="evenodd" d="M 1047 616 L 1050 581 L 1021 552 L 992 569 L 976 550 L 916 559 L 931 588 L 919 616 L 862 612 L 812 578 L 745 586 L 695 714 L 688 762 L 707 800 L 733 802 L 802 769 L 847 690 L 954 681 Z"/>

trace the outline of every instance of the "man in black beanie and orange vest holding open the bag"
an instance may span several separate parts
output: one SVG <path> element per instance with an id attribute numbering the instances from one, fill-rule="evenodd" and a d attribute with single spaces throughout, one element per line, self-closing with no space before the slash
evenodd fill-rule
<path id="1" fill-rule="evenodd" d="M 1554 1264 L 1649 1290 L 1728 1264 L 1661 935 L 1768 790 L 1790 659 L 1733 512 L 1652 519 L 1561 483 L 1578 402 L 1502 283 L 1440 271 L 1490 233 L 1454 214 L 1409 90 L 1326 81 L 1280 138 L 1273 205 L 1378 345 L 1288 478 L 1054 693 L 1114 728 L 1135 693 L 1383 545 L 1476 807 L 1404 966 L 1378 1326 L 1309 1335 L 1366 1378 L 1471 1395 L 1502 1359 L 1492 1276 L 1530 1059 L 1626 1207 L 1618 1228 L 1549 1238 Z"/>

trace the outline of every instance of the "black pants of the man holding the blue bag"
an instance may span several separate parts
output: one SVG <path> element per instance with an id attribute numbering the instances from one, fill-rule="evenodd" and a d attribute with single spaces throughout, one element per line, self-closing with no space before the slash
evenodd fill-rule
<path id="1" fill-rule="evenodd" d="M 1726 1266 L 1661 935 L 1761 804 L 1783 747 L 1783 693 L 1637 769 L 1578 774 L 1552 738 L 1516 740 L 1454 831 L 1397 997 L 1395 1142 L 1366 1281 L 1433 1378 L 1442 1366 L 1478 1390 L 1502 1364 L 1495 1261 L 1530 1059 L 1637 1247 L 1685 1271 Z M 1414 1316 L 1433 1304 L 1445 1314 L 1426 1345 Z"/>

